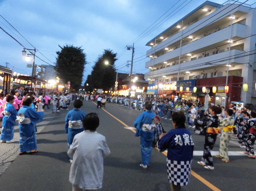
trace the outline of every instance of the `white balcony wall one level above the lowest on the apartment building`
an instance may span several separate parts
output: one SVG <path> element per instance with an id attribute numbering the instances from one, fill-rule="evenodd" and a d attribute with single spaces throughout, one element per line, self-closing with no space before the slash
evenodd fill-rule
<path id="1" fill-rule="evenodd" d="M 240 40 L 246 37 L 247 26 L 243 24 L 233 24 L 232 26 L 232 34 L 231 39 L 233 41 Z M 162 65 L 163 62 L 172 62 L 177 60 L 180 53 L 181 55 L 186 55 L 187 53 L 191 53 L 192 55 L 205 52 L 206 50 L 214 49 L 216 47 L 220 47 L 228 43 L 228 39 L 230 39 L 230 30 L 231 26 L 224 28 L 220 31 L 216 31 L 213 34 L 205 36 L 201 39 L 195 40 L 189 44 L 186 44 L 180 48 L 177 48 L 173 51 L 165 53 L 157 58 L 151 59 L 146 62 L 145 68 L 149 68 L 157 65 Z"/>

